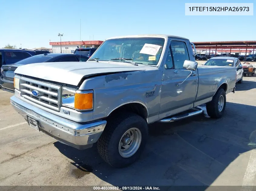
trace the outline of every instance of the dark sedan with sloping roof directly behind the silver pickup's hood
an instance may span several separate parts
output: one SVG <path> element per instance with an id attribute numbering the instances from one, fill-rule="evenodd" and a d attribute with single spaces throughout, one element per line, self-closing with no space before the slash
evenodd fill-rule
<path id="1" fill-rule="evenodd" d="M 0 87 L 2 90 L 13 92 L 13 77 L 15 75 L 14 71 L 16 68 L 22 65 L 40 63 L 40 62 L 86 62 L 89 59 L 88 56 L 84 55 L 74 55 L 74 54 L 61 54 L 61 53 L 51 53 L 51 54 L 39 54 L 26 59 L 23 59 L 15 64 L 2 65 L 1 76 L 0 76 Z M 44 64 L 46 65 L 46 64 Z"/>

